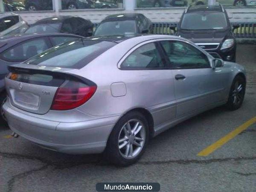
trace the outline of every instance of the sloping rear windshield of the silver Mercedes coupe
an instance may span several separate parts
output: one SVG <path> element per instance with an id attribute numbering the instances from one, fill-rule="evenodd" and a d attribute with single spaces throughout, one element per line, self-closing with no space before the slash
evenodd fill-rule
<path id="1" fill-rule="evenodd" d="M 114 45 L 116 43 L 110 41 L 79 39 L 52 47 L 24 63 L 80 69 Z"/>

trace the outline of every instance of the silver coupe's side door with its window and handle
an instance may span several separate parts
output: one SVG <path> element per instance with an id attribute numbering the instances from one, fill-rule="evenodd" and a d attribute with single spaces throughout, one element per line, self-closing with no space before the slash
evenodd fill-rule
<path id="1" fill-rule="evenodd" d="M 160 41 L 175 78 L 177 117 L 196 112 L 224 99 L 227 81 L 212 69 L 207 55 L 185 41 Z"/>

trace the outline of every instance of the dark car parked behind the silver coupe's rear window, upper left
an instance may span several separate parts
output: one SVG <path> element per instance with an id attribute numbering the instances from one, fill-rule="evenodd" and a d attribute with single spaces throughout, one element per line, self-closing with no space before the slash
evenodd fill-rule
<path id="1" fill-rule="evenodd" d="M 93 34 L 93 23 L 81 17 L 58 16 L 38 20 L 25 33 L 71 33 L 84 37 Z"/>

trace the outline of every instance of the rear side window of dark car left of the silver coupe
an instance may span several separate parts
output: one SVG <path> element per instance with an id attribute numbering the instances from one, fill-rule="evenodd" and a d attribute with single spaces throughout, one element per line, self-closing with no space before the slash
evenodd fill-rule
<path id="1" fill-rule="evenodd" d="M 47 42 L 44 38 L 37 38 L 25 41 L 15 45 L 11 49 L 6 50 L 1 55 L 3 60 L 10 62 L 25 61 L 48 49 Z"/>

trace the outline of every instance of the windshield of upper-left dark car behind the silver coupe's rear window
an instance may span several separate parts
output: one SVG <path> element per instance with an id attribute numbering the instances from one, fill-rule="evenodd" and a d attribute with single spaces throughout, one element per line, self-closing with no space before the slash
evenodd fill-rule
<path id="1" fill-rule="evenodd" d="M 54 33 L 59 32 L 61 23 L 41 23 L 29 27 L 25 33 Z"/>

